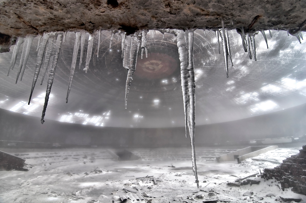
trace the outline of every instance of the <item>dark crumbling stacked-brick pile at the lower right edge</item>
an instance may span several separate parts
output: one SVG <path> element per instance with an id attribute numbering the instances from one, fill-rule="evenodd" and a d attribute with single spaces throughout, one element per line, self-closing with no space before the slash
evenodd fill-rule
<path id="1" fill-rule="evenodd" d="M 300 153 L 285 159 L 281 165 L 264 169 L 261 177 L 279 181 L 282 190 L 292 187 L 293 192 L 306 195 L 306 145 Z"/>

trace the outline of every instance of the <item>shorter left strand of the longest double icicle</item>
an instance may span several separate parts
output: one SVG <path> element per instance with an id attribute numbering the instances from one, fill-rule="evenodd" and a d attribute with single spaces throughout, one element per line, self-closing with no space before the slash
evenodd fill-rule
<path id="1" fill-rule="evenodd" d="M 188 66 L 188 52 L 185 47 L 185 33 L 182 30 L 175 30 L 175 36 L 177 37 L 177 48 L 178 54 L 181 61 L 181 86 L 183 93 L 184 102 L 184 113 L 185 113 L 185 136 L 187 138 L 187 127 L 188 127 L 188 109 L 189 109 L 189 94 L 188 94 L 188 78 L 189 72 L 187 70 Z"/>

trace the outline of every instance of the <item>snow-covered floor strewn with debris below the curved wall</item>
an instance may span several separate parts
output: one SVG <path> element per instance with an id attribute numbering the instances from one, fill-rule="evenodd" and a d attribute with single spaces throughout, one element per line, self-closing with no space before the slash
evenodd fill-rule
<path id="1" fill-rule="evenodd" d="M 198 148 L 199 149 L 199 148 Z M 29 152 L 22 149 L 10 149 L 9 153 L 26 159 L 29 170 L 0 171 L 0 202 L 31 202 L 31 203 L 60 203 L 60 202 L 115 202 L 127 194 L 123 188 L 136 188 L 140 193 L 146 192 L 153 203 L 168 202 L 203 202 L 219 200 L 218 202 L 281 202 L 282 197 L 302 198 L 304 195 L 295 194 L 290 189 L 282 191 L 277 182 L 264 181 L 260 177 L 251 178 L 261 182 L 259 185 L 228 186 L 228 181 L 234 182 L 237 177 L 246 177 L 264 168 L 272 168 L 287 157 L 299 153 L 301 147 L 278 148 L 261 154 L 254 161 L 251 158 L 237 164 L 237 161 L 218 163 L 215 159 L 197 156 L 197 168 L 200 188 L 196 188 L 192 172 L 191 158 L 182 154 L 171 158 L 169 156 L 153 156 L 168 154 L 171 151 L 185 152 L 181 149 L 131 149 L 141 155 L 147 154 L 138 161 L 114 161 L 106 149 L 37 149 Z M 6 149 L 0 149 L 5 151 Z M 218 149 L 200 148 L 199 153 L 218 155 Z M 225 153 L 225 152 L 223 152 Z M 149 156 L 150 154 L 151 157 Z M 171 154 L 171 153 L 170 153 Z M 159 157 L 159 158 L 156 158 Z M 175 166 L 168 167 L 168 166 Z M 94 172 L 100 167 L 103 172 Z M 154 175 L 161 180 L 155 185 L 143 183 L 136 178 Z M 235 175 L 235 176 L 232 176 Z M 132 183 L 130 186 L 126 183 Z M 204 190 L 204 191 L 200 191 Z M 213 192 L 209 192 L 213 191 Z M 247 191 L 251 196 L 243 196 Z M 266 197 L 272 193 L 275 196 Z M 134 201 L 134 202 L 145 202 Z"/>

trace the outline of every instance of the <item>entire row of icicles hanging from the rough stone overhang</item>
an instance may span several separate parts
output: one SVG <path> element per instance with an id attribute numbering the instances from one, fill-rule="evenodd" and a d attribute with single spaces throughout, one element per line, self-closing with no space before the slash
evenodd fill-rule
<path id="1" fill-rule="evenodd" d="M 177 47 L 178 47 L 178 53 L 179 53 L 179 59 L 180 59 L 180 66 L 181 66 L 181 86 L 182 86 L 182 93 L 183 93 L 183 102 L 184 102 L 184 113 L 185 113 L 185 131 L 186 131 L 186 137 L 187 137 L 187 131 L 189 131 L 190 140 L 191 140 L 191 149 L 192 149 L 192 169 L 196 176 L 196 183 L 197 187 L 199 187 L 199 181 L 196 171 L 196 154 L 195 154 L 195 147 L 194 147 L 194 134 L 195 134 L 195 79 L 194 79 L 194 67 L 193 67 L 193 33 L 194 30 L 176 30 L 176 29 L 161 29 L 159 30 L 163 37 L 164 33 L 168 32 L 171 34 L 174 34 L 177 38 Z M 205 33 L 205 29 L 203 29 Z M 214 30 L 217 37 L 218 42 L 218 49 L 219 54 L 220 52 L 220 45 L 219 45 L 219 36 L 222 40 L 222 48 L 223 48 L 223 54 L 224 54 L 224 61 L 225 61 L 225 69 L 226 69 L 226 76 L 228 77 L 228 57 L 230 57 L 231 65 L 233 66 L 233 61 L 230 53 L 230 44 L 229 44 L 229 35 L 228 30 L 224 28 L 224 23 L 222 21 L 222 29 Z M 155 30 L 153 31 L 156 32 Z M 252 59 L 251 54 L 251 47 L 254 59 L 256 61 L 256 47 L 255 47 L 255 35 L 256 33 L 244 33 L 244 29 L 237 29 L 237 32 L 241 35 L 242 38 L 242 44 L 245 52 L 248 52 L 250 59 Z M 125 85 L 125 109 L 127 108 L 127 97 L 129 94 L 129 89 L 132 83 L 133 74 L 136 70 L 136 61 L 137 61 L 137 55 L 139 51 L 139 47 L 141 47 L 141 59 L 143 58 L 143 55 L 145 53 L 146 57 L 148 57 L 148 51 L 147 51 L 147 30 L 136 32 L 132 35 L 126 35 L 125 32 L 121 32 L 118 30 L 111 29 L 110 33 L 110 48 L 112 45 L 112 41 L 114 38 L 114 34 L 118 33 L 118 39 L 121 36 L 122 42 L 121 42 L 121 50 L 122 50 L 122 60 L 123 60 L 123 67 L 128 70 L 127 78 L 126 78 L 126 85 Z M 267 37 L 265 35 L 264 30 L 261 30 L 261 33 L 263 34 L 263 37 L 267 43 Z M 271 36 L 271 32 L 270 37 Z M 288 32 L 288 35 L 294 35 L 297 37 L 297 39 L 300 41 L 300 38 L 303 39 L 303 36 L 300 32 Z M 68 97 L 71 90 L 71 85 L 73 81 L 73 75 L 76 67 L 76 58 L 80 46 L 80 62 L 79 62 L 79 69 L 82 64 L 82 58 L 83 58 L 83 50 L 85 45 L 85 36 L 86 31 L 76 31 L 75 32 L 75 41 L 74 41 L 74 47 L 73 47 L 73 57 L 72 57 L 72 64 L 71 64 L 71 70 L 70 70 L 70 77 L 69 77 L 69 84 L 68 84 L 68 91 L 67 91 L 67 97 L 66 97 L 66 103 L 68 103 Z M 85 73 L 87 73 L 89 68 L 89 62 L 91 59 L 92 54 L 92 48 L 93 48 L 93 38 L 95 35 L 99 36 L 98 39 L 98 54 L 97 57 L 99 57 L 99 48 L 100 48 L 100 42 L 101 42 L 101 29 L 98 31 L 95 31 L 94 34 L 89 34 L 88 38 L 88 46 L 87 46 L 87 54 L 86 54 L 86 64 L 85 68 L 83 69 Z M 35 36 L 28 35 L 25 38 L 18 37 L 16 41 L 16 45 L 13 49 L 12 59 L 9 67 L 10 70 L 13 70 L 16 60 L 17 60 L 17 54 L 19 52 L 19 49 L 21 47 L 21 44 L 24 43 L 22 53 L 21 53 L 21 59 L 19 62 L 18 67 L 18 73 L 16 78 L 16 83 L 19 79 L 20 73 L 21 73 L 21 80 L 24 75 L 24 70 L 26 68 L 26 64 L 28 61 L 31 45 L 33 42 Z M 48 72 L 48 82 L 47 82 L 47 90 L 46 90 L 46 97 L 45 97 L 45 103 L 43 106 L 43 113 L 41 117 L 41 123 L 44 122 L 44 116 L 49 100 L 49 95 L 54 79 L 54 74 L 56 70 L 56 65 L 58 61 L 58 56 L 61 49 L 61 44 L 65 42 L 66 32 L 50 32 L 50 33 L 44 33 L 43 36 L 39 35 L 39 41 L 38 41 L 38 47 L 37 47 L 37 59 L 36 59 L 36 65 L 35 65 L 35 73 L 34 78 L 32 82 L 32 88 L 31 88 L 31 94 L 29 98 L 28 104 L 30 104 L 31 97 L 33 94 L 33 90 L 36 84 L 36 81 L 38 79 L 38 75 L 40 72 L 40 68 L 43 63 L 43 57 L 44 57 L 44 65 L 43 65 L 43 74 L 42 74 L 42 80 L 41 85 L 43 83 L 44 76 L 46 74 L 47 68 L 49 67 Z M 267 44 L 268 48 L 268 44 Z M 8 75 L 9 75 L 8 72 Z M 188 129 L 188 130 L 187 130 Z"/>

